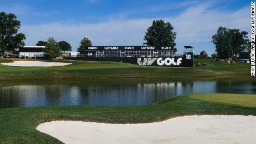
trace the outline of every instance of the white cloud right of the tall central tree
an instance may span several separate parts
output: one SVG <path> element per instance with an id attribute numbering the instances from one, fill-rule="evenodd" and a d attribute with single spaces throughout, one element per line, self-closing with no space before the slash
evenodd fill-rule
<path id="1" fill-rule="evenodd" d="M 236 12 L 220 12 L 208 9 L 208 4 L 187 9 L 176 18 L 167 18 L 173 23 L 178 42 L 211 41 L 219 26 L 249 31 L 249 11 L 244 7 Z"/>

